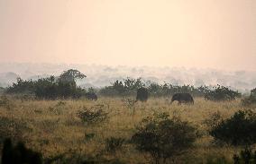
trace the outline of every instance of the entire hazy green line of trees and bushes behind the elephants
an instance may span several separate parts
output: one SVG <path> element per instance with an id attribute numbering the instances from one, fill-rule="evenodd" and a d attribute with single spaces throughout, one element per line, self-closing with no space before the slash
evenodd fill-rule
<path id="1" fill-rule="evenodd" d="M 241 97 L 238 91 L 232 91 L 224 86 L 200 86 L 173 85 L 170 83 L 159 84 L 156 82 L 144 82 L 142 78 L 126 78 L 123 81 L 115 81 L 101 89 L 89 89 L 86 91 L 78 87 L 76 80 L 87 77 L 78 70 L 70 69 L 61 73 L 58 77 L 50 76 L 37 81 L 17 79 L 13 86 L 7 88 L 7 94 L 23 94 L 37 99 L 78 99 L 82 96 L 95 95 L 108 97 L 135 96 L 138 89 L 145 88 L 151 97 L 171 97 L 175 93 L 190 93 L 194 97 L 205 97 L 209 100 L 233 100 Z M 91 93 L 91 94 L 88 94 Z"/>

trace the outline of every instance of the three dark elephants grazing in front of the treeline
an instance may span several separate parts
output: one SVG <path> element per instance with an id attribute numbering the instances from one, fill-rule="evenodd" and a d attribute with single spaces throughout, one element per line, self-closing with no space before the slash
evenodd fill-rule
<path id="1" fill-rule="evenodd" d="M 146 88 L 140 88 L 137 90 L 137 96 L 136 96 L 136 101 L 147 101 L 149 99 L 149 91 Z M 90 100 L 97 100 L 97 95 L 94 92 L 88 92 L 86 94 L 86 98 Z M 178 105 L 181 105 L 182 103 L 184 104 L 189 104 L 193 105 L 194 104 L 194 99 L 189 93 L 175 93 L 172 98 L 171 98 L 171 103 L 173 101 L 178 101 Z"/>

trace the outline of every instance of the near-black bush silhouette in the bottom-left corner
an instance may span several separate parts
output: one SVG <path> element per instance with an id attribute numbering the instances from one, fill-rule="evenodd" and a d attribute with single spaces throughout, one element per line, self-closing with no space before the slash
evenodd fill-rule
<path id="1" fill-rule="evenodd" d="M 13 145 L 11 139 L 6 139 L 2 151 L 2 164 L 41 164 L 41 153 L 25 147 L 23 142 Z"/>

